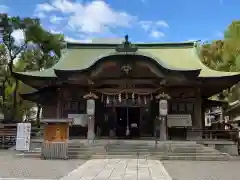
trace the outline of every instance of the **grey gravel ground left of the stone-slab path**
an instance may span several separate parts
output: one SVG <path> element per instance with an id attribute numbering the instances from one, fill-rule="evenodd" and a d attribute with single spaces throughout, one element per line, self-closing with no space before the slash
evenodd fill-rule
<path id="1" fill-rule="evenodd" d="M 16 151 L 0 150 L 0 178 L 58 179 L 85 162 L 20 158 L 15 154 Z"/>

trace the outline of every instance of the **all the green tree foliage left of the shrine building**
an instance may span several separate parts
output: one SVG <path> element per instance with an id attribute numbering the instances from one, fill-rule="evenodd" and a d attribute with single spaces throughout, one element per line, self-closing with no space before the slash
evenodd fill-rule
<path id="1" fill-rule="evenodd" d="M 13 36 L 19 30 L 25 36 L 21 41 Z M 3 83 L 0 106 L 5 115 L 19 119 L 33 104 L 19 97 L 18 88 L 22 84 L 13 78 L 12 72 L 51 67 L 61 56 L 64 37 L 46 31 L 38 19 L 9 17 L 7 14 L 0 14 L 0 32 L 0 77 Z"/>

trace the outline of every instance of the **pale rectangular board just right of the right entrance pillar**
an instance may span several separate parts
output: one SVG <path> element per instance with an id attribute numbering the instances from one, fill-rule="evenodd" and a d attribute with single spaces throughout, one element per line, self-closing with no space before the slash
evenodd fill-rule
<path id="1" fill-rule="evenodd" d="M 167 116 L 168 127 L 189 127 L 192 126 L 190 114 L 169 114 Z"/>

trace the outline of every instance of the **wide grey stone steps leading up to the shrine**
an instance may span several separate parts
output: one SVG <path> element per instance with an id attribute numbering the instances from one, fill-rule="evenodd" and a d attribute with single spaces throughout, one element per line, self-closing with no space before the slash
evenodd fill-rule
<path id="1" fill-rule="evenodd" d="M 120 158 L 146 158 L 158 160 L 202 160 L 227 161 L 232 157 L 221 153 L 212 147 L 197 144 L 194 141 L 159 142 L 112 140 L 88 144 L 83 142 L 69 143 L 69 159 L 120 159 Z M 41 149 L 20 154 L 23 157 L 40 158 Z"/>

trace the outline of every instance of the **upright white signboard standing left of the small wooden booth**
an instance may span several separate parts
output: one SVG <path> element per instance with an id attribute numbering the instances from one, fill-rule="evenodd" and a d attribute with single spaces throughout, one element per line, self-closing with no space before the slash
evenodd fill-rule
<path id="1" fill-rule="evenodd" d="M 29 151 L 31 138 L 31 123 L 17 124 L 16 150 Z"/>

